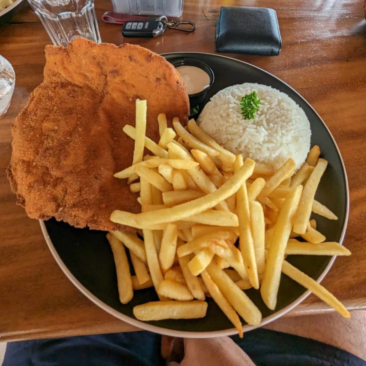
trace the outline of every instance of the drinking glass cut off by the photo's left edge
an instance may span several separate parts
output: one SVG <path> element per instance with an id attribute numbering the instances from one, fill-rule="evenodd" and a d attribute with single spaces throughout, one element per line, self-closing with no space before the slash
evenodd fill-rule
<path id="1" fill-rule="evenodd" d="M 10 62 L 0 55 L 0 118 L 9 108 L 15 86 L 15 73 Z"/>

